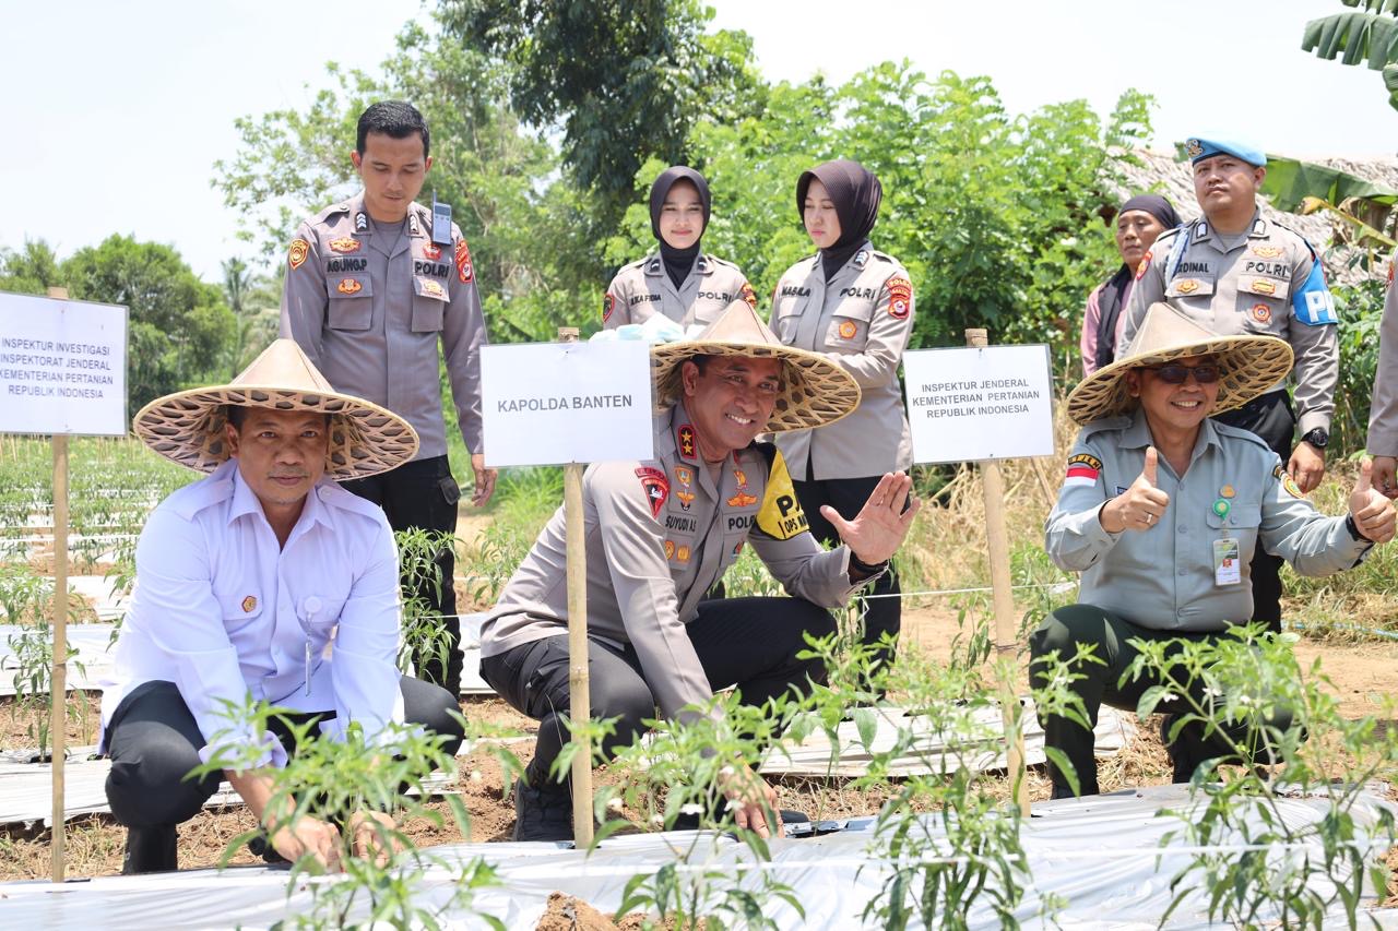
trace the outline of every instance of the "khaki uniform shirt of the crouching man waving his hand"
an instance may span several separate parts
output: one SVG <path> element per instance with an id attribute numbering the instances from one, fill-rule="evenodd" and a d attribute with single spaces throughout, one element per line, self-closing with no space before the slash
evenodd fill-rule
<path id="1" fill-rule="evenodd" d="M 587 468 L 583 520 L 587 635 L 635 650 L 667 717 L 713 696 L 685 625 L 745 544 L 795 598 L 835 608 L 858 587 L 849 579 L 849 548 L 825 551 L 807 531 L 780 453 L 754 443 L 726 459 L 714 478 L 682 401 L 656 418 L 654 460 Z M 565 524 L 559 507 L 487 616 L 482 660 L 568 633 Z M 793 602 L 765 601 L 774 612 Z"/>

